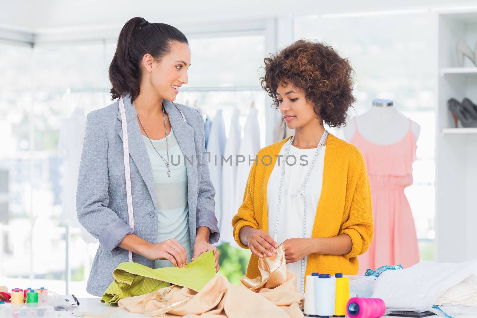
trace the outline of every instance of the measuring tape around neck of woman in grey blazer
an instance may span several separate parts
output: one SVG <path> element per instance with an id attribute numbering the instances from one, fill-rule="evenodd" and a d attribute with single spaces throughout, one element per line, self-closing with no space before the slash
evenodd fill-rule
<path id="1" fill-rule="evenodd" d="M 186 116 L 180 111 L 179 107 L 175 103 L 179 113 L 184 119 L 184 123 L 187 123 Z M 127 215 L 129 216 L 129 227 L 134 230 L 134 216 L 133 216 L 133 196 L 131 193 L 131 172 L 129 170 L 129 141 L 127 139 L 127 123 L 126 112 L 124 110 L 123 96 L 119 98 L 119 112 L 121 113 L 121 123 L 123 125 L 123 155 L 124 155 L 124 176 L 126 179 L 126 199 L 127 199 Z M 166 132 L 167 133 L 167 132 Z M 133 261 L 133 252 L 128 253 L 129 261 Z"/>

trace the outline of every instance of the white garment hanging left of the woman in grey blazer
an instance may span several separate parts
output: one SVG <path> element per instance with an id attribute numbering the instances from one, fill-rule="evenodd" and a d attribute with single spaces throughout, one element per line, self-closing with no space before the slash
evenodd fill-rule
<path id="1" fill-rule="evenodd" d="M 63 121 L 58 140 L 58 151 L 63 158 L 61 220 L 64 224 L 80 228 L 82 226 L 76 216 L 76 188 L 78 186 L 78 171 L 80 169 L 85 129 L 86 116 L 84 111 L 75 108 L 71 116 Z M 86 231 L 81 231 L 81 235 L 87 243 L 98 242 Z"/>

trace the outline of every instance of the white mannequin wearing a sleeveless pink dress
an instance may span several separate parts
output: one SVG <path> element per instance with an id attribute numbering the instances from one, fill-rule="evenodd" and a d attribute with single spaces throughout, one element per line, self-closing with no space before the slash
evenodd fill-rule
<path id="1" fill-rule="evenodd" d="M 371 187 L 374 236 L 368 250 L 358 256 L 358 275 L 401 264 L 419 262 L 419 248 L 411 207 L 404 189 L 412 185 L 412 164 L 421 127 L 393 106 L 373 100 L 373 107 L 344 127 L 345 139 L 363 154 Z"/>

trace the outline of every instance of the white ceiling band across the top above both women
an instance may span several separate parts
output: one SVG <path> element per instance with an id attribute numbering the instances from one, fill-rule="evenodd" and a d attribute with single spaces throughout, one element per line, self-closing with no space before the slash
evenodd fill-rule
<path id="1" fill-rule="evenodd" d="M 304 14 L 476 6 L 476 0 L 342 0 L 342 1 L 127 1 L 16 0 L 0 5 L 0 26 L 38 31 L 84 25 L 123 25 L 134 16 L 176 25 Z"/>

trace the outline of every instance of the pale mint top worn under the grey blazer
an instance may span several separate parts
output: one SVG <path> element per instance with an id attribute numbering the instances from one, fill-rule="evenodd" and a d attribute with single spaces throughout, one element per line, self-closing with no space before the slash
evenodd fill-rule
<path id="1" fill-rule="evenodd" d="M 187 252 L 187 262 L 192 258 L 189 231 L 189 205 L 187 191 L 187 167 L 184 154 L 177 143 L 174 132 L 167 135 L 169 143 L 169 168 L 171 176 L 167 176 L 167 167 L 143 135 L 147 154 L 151 160 L 152 173 L 156 186 L 157 199 L 157 243 L 175 238 Z M 166 137 L 151 140 L 156 150 L 167 159 Z M 171 161 L 172 157 L 172 161 Z M 173 200 L 171 200 L 173 198 Z M 156 268 L 173 266 L 167 259 L 156 260 Z"/>

